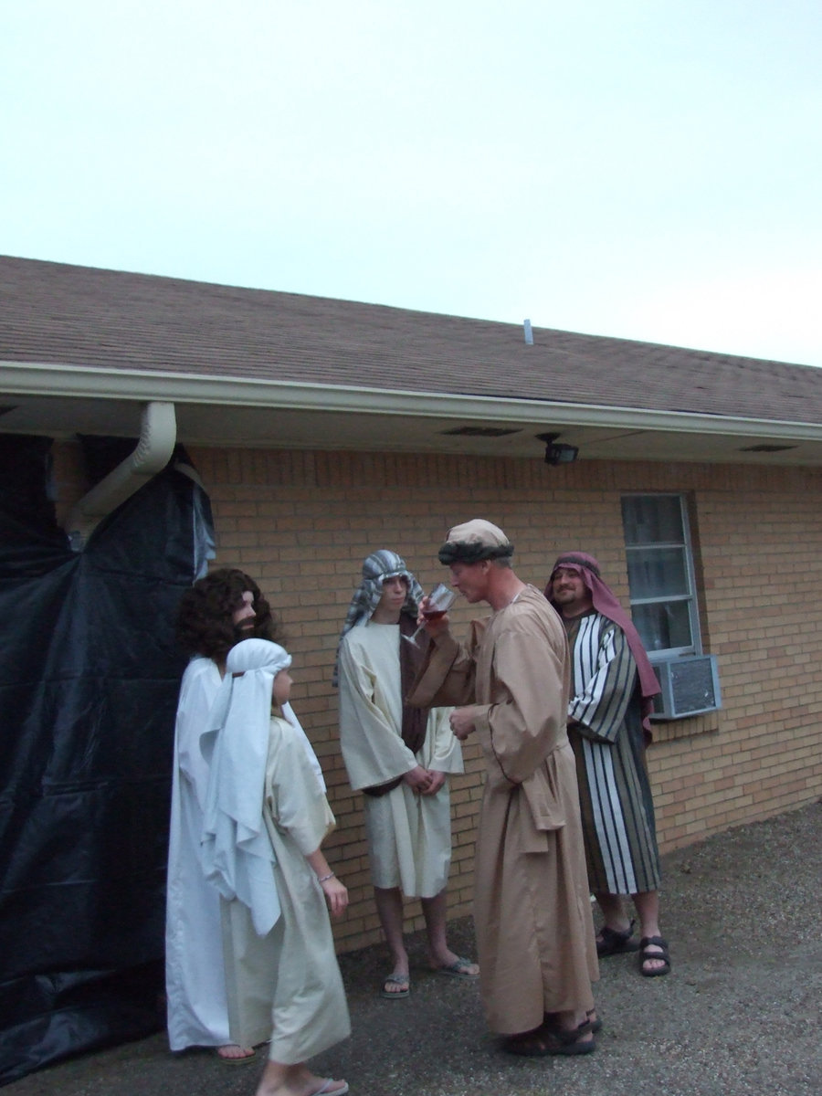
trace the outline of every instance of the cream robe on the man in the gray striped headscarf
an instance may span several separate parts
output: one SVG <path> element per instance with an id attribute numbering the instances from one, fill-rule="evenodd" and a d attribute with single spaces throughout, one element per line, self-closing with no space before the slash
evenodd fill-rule
<path id="1" fill-rule="evenodd" d="M 340 649 L 340 744 L 354 790 L 386 784 L 416 765 L 461 773 L 463 752 L 448 722 L 449 709 L 429 713 L 422 750 L 402 741 L 399 625 L 369 621 L 349 631 Z M 400 887 L 408 897 L 434 898 L 448 881 L 450 800 L 448 783 L 434 796 L 406 784 L 377 798 L 364 797 L 372 882 Z"/>

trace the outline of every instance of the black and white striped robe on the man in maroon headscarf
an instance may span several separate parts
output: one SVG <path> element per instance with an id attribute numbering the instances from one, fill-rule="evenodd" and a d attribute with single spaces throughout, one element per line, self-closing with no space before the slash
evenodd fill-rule
<path id="1" fill-rule="evenodd" d="M 623 629 L 601 613 L 567 624 L 568 737 L 576 757 L 589 884 L 601 894 L 657 890 L 660 857 L 633 655 Z"/>

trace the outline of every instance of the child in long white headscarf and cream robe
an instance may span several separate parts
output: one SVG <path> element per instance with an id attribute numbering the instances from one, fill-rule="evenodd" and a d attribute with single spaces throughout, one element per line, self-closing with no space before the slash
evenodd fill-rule
<path id="1" fill-rule="evenodd" d="M 262 639 L 228 653 L 216 730 L 201 740 L 210 756 L 203 866 L 222 899 L 231 1038 L 271 1040 L 256 1096 L 342 1096 L 344 1081 L 305 1064 L 351 1034 L 328 916 L 349 893 L 320 848 L 334 817 L 317 761 L 299 724 L 279 715 L 290 662 Z"/>

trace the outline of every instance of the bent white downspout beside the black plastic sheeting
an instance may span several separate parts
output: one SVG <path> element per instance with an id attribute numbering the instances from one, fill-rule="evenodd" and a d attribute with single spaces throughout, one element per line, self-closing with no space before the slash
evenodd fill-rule
<path id="1" fill-rule="evenodd" d="M 137 448 L 83 495 L 69 514 L 65 527 L 75 551 L 82 551 L 100 522 L 163 470 L 175 443 L 174 404 L 147 403 L 142 409 Z"/>

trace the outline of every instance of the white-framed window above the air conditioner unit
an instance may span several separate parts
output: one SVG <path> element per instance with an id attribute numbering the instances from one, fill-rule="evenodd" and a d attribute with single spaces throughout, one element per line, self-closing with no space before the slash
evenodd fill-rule
<path id="1" fill-rule="evenodd" d="M 623 495 L 623 528 L 631 617 L 651 661 L 701 654 L 685 498 Z"/>

